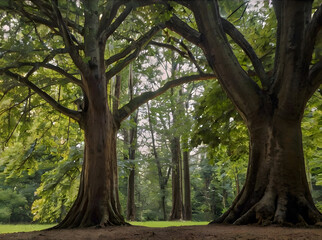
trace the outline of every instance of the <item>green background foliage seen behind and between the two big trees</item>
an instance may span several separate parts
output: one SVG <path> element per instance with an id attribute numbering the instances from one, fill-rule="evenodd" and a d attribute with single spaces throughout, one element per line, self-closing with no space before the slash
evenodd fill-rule
<path id="1" fill-rule="evenodd" d="M 83 24 L 83 15 L 77 7 L 78 1 L 61 1 L 64 15 Z M 256 11 L 246 9 L 245 1 L 219 1 L 221 12 L 242 31 L 261 58 L 265 70 L 273 64 L 275 45 L 271 39 L 276 33 L 276 23 L 272 21 L 273 9 L 269 2 Z M 238 11 L 232 14 L 232 9 Z M 191 12 L 179 5 L 171 5 L 173 12 L 196 27 L 191 20 Z M 245 10 L 246 9 L 246 10 Z M 244 11 L 245 10 L 245 11 Z M 133 39 L 138 39 L 154 23 L 170 19 L 172 12 L 168 9 L 144 7 L 134 10 L 127 20 L 108 39 L 106 57 L 122 52 Z M 11 66 L 15 73 L 23 74 L 31 67 L 12 66 L 15 62 L 42 61 L 52 49 L 64 47 L 62 39 L 42 25 L 30 25 L 24 18 L 10 12 L 0 14 L 0 64 Z M 265 24 L 263 24 L 265 22 Z M 249 27 L 249 26 L 252 27 Z M 144 26 L 144 28 L 142 27 Z M 242 27 L 242 28 L 241 28 Z M 77 39 L 82 36 L 73 30 Z M 135 95 L 162 86 L 171 76 L 171 60 L 177 64 L 176 75 L 183 76 L 196 71 L 209 72 L 209 66 L 200 49 L 193 47 L 186 40 L 169 30 L 159 33 L 156 38 L 162 44 L 171 44 L 177 48 L 173 54 L 161 49 L 156 44 L 145 46 L 133 62 Z M 31 41 L 32 40 L 32 41 Z M 244 52 L 231 41 L 234 53 L 248 74 L 254 75 L 253 68 Z M 187 63 L 187 49 L 197 56 L 198 64 Z M 82 51 L 80 51 L 82 52 Z M 181 53 L 181 54 L 180 54 Z M 83 57 L 83 56 L 82 56 Z M 83 58 L 85 62 L 89 59 Z M 58 54 L 53 63 L 79 77 L 68 54 Z M 121 62 L 121 60 L 119 61 Z M 117 63 L 109 66 L 113 68 Z M 129 68 L 123 68 L 121 76 L 120 107 L 129 102 L 128 79 Z M 197 69 L 199 68 L 199 69 Z M 180 71 L 179 71 L 180 70 Z M 125 80 L 124 80 L 125 79 Z M 257 81 L 256 77 L 254 79 Z M 81 89 L 67 81 L 66 77 L 50 69 L 39 68 L 30 80 L 60 104 L 76 109 L 74 100 L 80 98 Z M 115 79 L 108 86 L 113 93 Z M 229 207 L 238 189 L 242 186 L 248 159 L 248 133 L 234 106 L 227 99 L 217 82 L 194 83 L 176 88 L 172 94 L 167 92 L 155 101 L 151 101 L 153 127 L 162 173 L 167 175 L 170 164 L 169 139 L 174 135 L 191 138 L 195 149 L 191 159 L 192 207 L 195 220 L 210 220 L 221 215 Z M 200 97 L 202 95 L 203 96 Z M 110 94 L 109 105 L 116 98 Z M 191 96 L 193 95 L 193 96 Z M 196 106 L 191 106 L 197 101 Z M 177 113 L 173 123 L 171 108 L 183 102 L 190 104 L 189 111 Z M 178 104 L 179 103 L 179 104 Z M 304 152 L 307 175 L 313 197 L 322 210 L 322 166 L 321 166 L 321 92 L 310 100 L 302 122 Z M 193 111 L 196 110 L 195 113 Z M 141 111 L 141 110 L 140 110 Z M 152 155 L 151 135 L 147 124 L 146 108 L 142 107 L 139 124 L 139 148 L 136 169 L 136 208 L 139 220 L 161 219 L 160 191 L 158 188 L 157 167 Z M 194 119 L 192 119 L 194 115 Z M 191 124 L 194 130 L 191 133 Z M 129 129 L 133 123 L 124 121 L 122 128 Z M 83 162 L 83 136 L 79 126 L 67 117 L 55 113 L 30 88 L 5 75 L 0 78 L 0 178 L 1 221 L 60 221 L 71 204 L 77 191 L 80 169 Z M 120 178 L 120 201 L 123 210 L 126 206 L 126 178 L 130 164 L 123 160 L 124 147 L 118 143 L 118 165 Z M 192 147 L 191 147 L 192 148 Z M 191 149 L 190 149 L 191 150 Z M 169 181 L 171 183 L 171 180 Z M 170 184 L 166 188 L 166 208 L 171 207 Z M 35 193 L 35 194 L 34 194 Z M 14 201 L 10 201 L 11 196 Z M 32 208 L 32 214 L 29 211 Z"/>

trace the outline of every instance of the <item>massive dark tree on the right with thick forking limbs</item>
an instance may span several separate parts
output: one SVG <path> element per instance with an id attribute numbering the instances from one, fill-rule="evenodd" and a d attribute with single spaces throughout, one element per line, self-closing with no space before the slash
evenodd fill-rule
<path id="1" fill-rule="evenodd" d="M 203 50 L 250 136 L 245 185 L 215 222 L 306 225 L 321 221 L 305 174 L 301 120 L 307 101 L 322 82 L 320 50 L 315 48 L 322 39 L 322 5 L 312 16 L 312 1 L 273 1 L 277 29 L 270 68 L 240 31 L 220 16 L 218 1 L 178 3 L 193 12 L 197 30 L 176 15 L 167 26 Z M 256 76 L 251 77 L 238 62 L 226 34 L 244 50 Z"/>

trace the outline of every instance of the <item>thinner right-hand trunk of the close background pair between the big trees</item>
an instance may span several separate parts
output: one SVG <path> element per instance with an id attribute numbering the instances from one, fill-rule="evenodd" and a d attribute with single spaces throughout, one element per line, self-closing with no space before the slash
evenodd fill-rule
<path id="1" fill-rule="evenodd" d="M 184 173 L 184 220 L 192 219 L 191 210 L 191 185 L 189 170 L 189 150 L 188 143 L 183 144 L 183 173 Z"/>

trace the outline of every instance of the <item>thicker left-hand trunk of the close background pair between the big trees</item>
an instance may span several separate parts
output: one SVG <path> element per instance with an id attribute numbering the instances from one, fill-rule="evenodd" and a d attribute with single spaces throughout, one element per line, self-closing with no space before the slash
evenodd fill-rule
<path id="1" fill-rule="evenodd" d="M 172 210 L 170 220 L 182 219 L 181 190 L 181 149 L 180 138 L 174 137 L 171 142 L 172 154 Z"/>

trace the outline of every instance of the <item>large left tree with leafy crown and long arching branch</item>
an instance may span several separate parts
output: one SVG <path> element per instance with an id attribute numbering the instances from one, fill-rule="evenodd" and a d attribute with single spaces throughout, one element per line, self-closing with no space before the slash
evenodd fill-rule
<path id="1" fill-rule="evenodd" d="M 120 123 L 140 105 L 171 87 L 213 77 L 200 73 L 171 80 L 119 106 L 115 76 L 165 28 L 161 19 L 144 21 L 130 15 L 144 4 L 98 0 L 8 0 L 0 4 L 2 31 L 6 31 L 1 38 L 6 43 L 1 84 L 7 85 L 6 91 L 33 91 L 57 112 L 76 121 L 84 132 L 78 195 L 57 228 L 126 224 L 118 196 L 116 134 Z M 155 16 L 167 14 L 164 8 L 155 10 Z M 126 21 L 132 25 L 126 25 Z M 140 26 L 149 30 L 143 32 Z M 133 34 L 127 35 L 131 28 L 135 28 Z M 113 50 L 110 45 L 115 40 L 119 40 L 119 46 Z M 77 110 L 71 109 L 73 104 L 55 100 L 50 89 L 43 88 L 61 79 L 79 89 L 78 99 L 74 99 Z M 14 84 L 8 87 L 8 83 Z"/>

